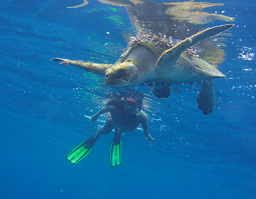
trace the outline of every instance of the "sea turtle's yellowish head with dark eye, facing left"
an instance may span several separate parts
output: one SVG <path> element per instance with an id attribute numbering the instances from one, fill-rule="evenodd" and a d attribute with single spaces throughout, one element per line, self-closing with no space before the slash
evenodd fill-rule
<path id="1" fill-rule="evenodd" d="M 141 83 L 138 68 L 132 62 L 125 61 L 106 69 L 106 86 L 110 86 L 112 88 L 125 88 Z"/>

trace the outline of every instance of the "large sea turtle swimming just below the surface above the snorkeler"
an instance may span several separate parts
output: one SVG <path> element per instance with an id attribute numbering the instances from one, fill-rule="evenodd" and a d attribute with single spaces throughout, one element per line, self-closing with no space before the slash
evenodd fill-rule
<path id="1" fill-rule="evenodd" d="M 135 21 L 137 27 L 141 26 L 138 25 L 138 20 Z M 152 28 L 152 25 L 150 26 Z M 216 68 L 217 60 L 215 64 L 213 62 L 209 64 L 204 59 L 197 57 L 193 47 L 233 26 L 234 24 L 226 24 L 208 28 L 183 40 L 167 38 L 166 35 L 155 34 L 152 30 L 144 30 L 143 27 L 139 29 L 137 37 L 131 40 L 115 64 L 85 63 L 84 61 L 60 58 L 51 60 L 104 75 L 105 84 L 112 88 L 127 88 L 154 82 L 152 93 L 158 98 L 170 96 L 171 84 L 192 84 L 193 81 L 196 81 L 201 85 L 197 96 L 199 109 L 203 111 L 204 115 L 208 115 L 216 106 L 213 78 L 225 77 L 225 75 Z"/>

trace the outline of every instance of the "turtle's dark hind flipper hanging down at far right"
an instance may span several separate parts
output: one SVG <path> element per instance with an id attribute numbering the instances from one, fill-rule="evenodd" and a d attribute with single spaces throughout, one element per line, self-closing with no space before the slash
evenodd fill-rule
<path id="1" fill-rule="evenodd" d="M 216 106 L 212 79 L 203 80 L 196 101 L 198 103 L 198 108 L 204 115 L 212 113 Z"/>

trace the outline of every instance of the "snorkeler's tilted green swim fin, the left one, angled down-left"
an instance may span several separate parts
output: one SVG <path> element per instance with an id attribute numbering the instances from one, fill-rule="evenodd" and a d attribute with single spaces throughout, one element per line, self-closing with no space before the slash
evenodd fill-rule
<path id="1" fill-rule="evenodd" d="M 73 164 L 79 163 L 86 155 L 92 151 L 93 144 L 90 143 L 90 140 L 87 139 L 84 142 L 80 143 L 79 146 L 74 148 L 69 154 L 66 156 L 68 161 Z"/>

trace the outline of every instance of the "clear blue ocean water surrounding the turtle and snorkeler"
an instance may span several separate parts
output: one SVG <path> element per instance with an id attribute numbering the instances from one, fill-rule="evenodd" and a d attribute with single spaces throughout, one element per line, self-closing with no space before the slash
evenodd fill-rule
<path id="1" fill-rule="evenodd" d="M 203 2 L 203 1 L 201 1 Z M 104 80 L 53 57 L 114 63 L 132 34 L 123 7 L 91 0 L 0 1 L 0 198 L 256 198 L 255 1 L 210 1 L 209 13 L 236 18 L 214 80 L 216 109 L 197 109 L 199 86 L 150 89 L 141 128 L 122 135 L 122 164 L 109 165 L 114 133 L 73 165 L 65 155 L 103 125 Z M 206 27 L 225 22 L 214 21 Z M 146 107 L 149 107 L 146 109 Z M 171 109 L 170 109 L 171 107 Z"/>

